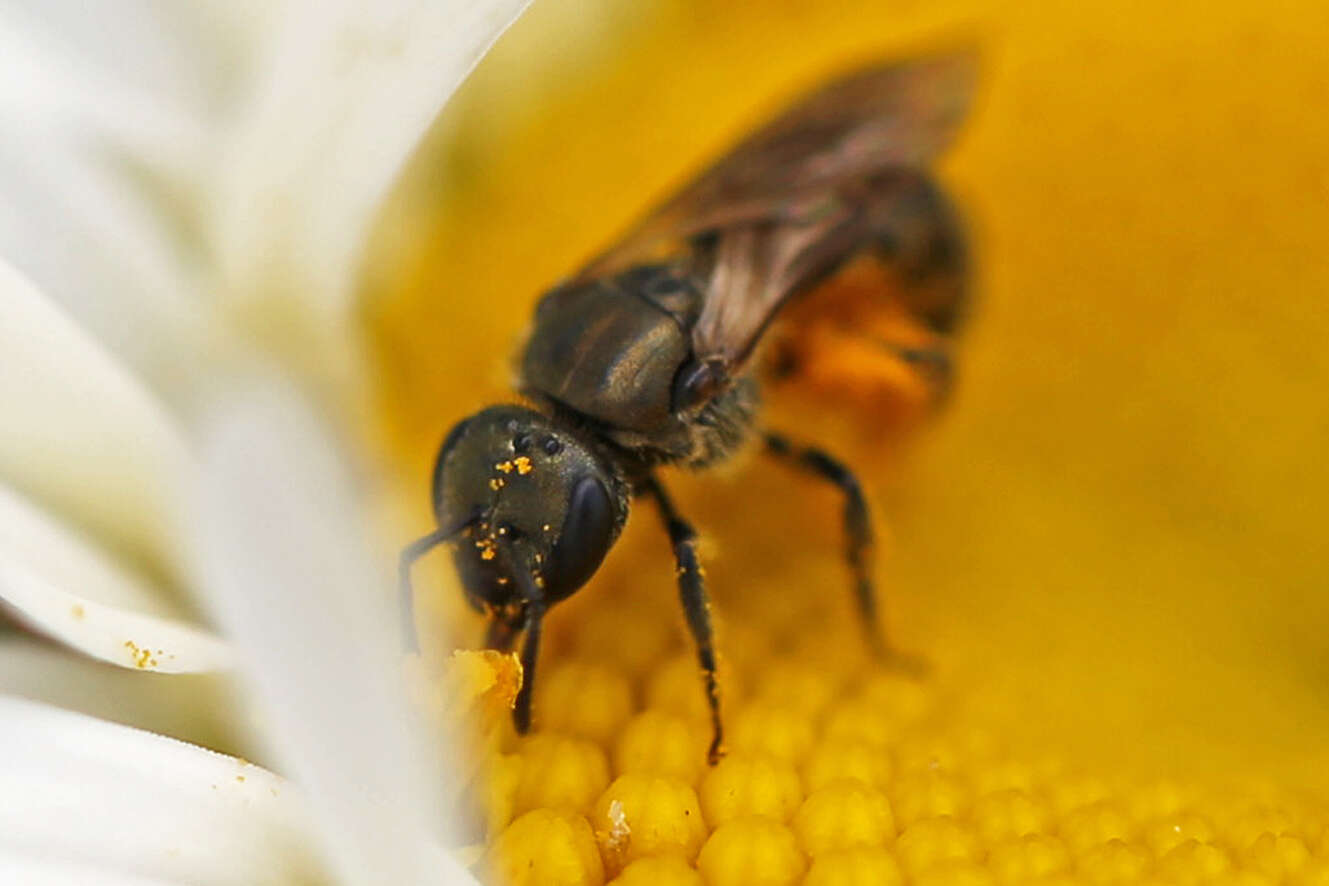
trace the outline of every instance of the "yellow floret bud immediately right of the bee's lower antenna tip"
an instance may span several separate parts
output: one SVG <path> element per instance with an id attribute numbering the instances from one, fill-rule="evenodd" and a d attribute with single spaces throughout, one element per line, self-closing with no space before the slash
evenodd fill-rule
<path id="1" fill-rule="evenodd" d="M 633 691 L 627 679 L 610 668 L 565 662 L 540 676 L 536 715 L 541 729 L 603 745 L 633 716 Z"/>

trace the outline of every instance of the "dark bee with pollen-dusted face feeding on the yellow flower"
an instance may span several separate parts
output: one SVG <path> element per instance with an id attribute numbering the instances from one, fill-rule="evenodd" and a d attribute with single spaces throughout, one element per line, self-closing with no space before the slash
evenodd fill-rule
<path id="1" fill-rule="evenodd" d="M 708 757 L 720 757 L 716 654 L 696 533 L 657 469 L 707 468 L 754 438 L 839 487 L 868 643 L 881 658 L 901 660 L 877 618 L 872 525 L 853 473 L 759 424 L 760 384 L 797 372 L 791 360 L 808 355 L 787 347 L 771 364 L 756 352 L 781 321 L 835 313 L 836 280 L 848 268 L 877 268 L 865 302 L 859 287 L 855 298 L 867 308 L 857 313 L 902 317 L 902 325 L 882 328 L 914 335 L 893 341 L 884 332 L 872 347 L 941 399 L 966 304 L 968 248 L 929 163 L 953 141 L 974 69 L 970 53 L 940 54 L 823 86 L 540 299 L 520 360 L 528 405 L 489 406 L 452 428 L 433 469 L 437 529 L 400 561 L 412 644 L 411 566 L 445 542 L 453 543 L 468 602 L 488 615 L 485 644 L 510 651 L 521 638 L 518 732 L 530 727 L 546 612 L 595 574 L 630 503 L 649 498 L 672 545 L 696 643 L 712 725 Z M 801 303 L 829 307 L 809 316 L 793 310 Z M 797 333 L 785 341 L 796 344 Z"/>

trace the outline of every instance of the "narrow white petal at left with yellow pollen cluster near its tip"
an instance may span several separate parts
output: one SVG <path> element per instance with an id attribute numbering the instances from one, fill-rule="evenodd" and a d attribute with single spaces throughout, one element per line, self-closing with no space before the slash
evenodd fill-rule
<path id="1" fill-rule="evenodd" d="M 126 668 L 230 667 L 225 643 L 166 616 L 150 586 L 0 486 L 0 600 L 32 628 Z"/>

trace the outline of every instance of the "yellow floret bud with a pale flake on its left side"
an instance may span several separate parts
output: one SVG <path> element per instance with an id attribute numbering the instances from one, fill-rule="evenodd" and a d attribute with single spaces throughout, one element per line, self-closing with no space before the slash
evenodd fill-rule
<path id="1" fill-rule="evenodd" d="M 646 855 L 696 858 L 706 841 L 696 792 L 662 776 L 619 776 L 595 801 L 591 822 L 611 873 Z"/>

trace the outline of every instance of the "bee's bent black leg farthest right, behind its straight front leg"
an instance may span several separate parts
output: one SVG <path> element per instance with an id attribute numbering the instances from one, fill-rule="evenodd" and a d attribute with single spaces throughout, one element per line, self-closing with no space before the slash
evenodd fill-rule
<path id="1" fill-rule="evenodd" d="M 884 662 L 900 665 L 905 671 L 924 669 L 921 662 L 902 655 L 886 642 L 877 612 L 877 588 L 872 580 L 872 519 L 868 515 L 868 499 L 863 495 L 859 478 L 847 465 L 820 449 L 797 446 L 788 437 L 767 432 L 763 434 L 766 449 L 772 456 L 783 458 L 808 473 L 828 480 L 844 493 L 845 559 L 853 573 L 853 590 L 859 602 L 859 614 L 868 635 L 868 646 L 873 655 Z"/>

